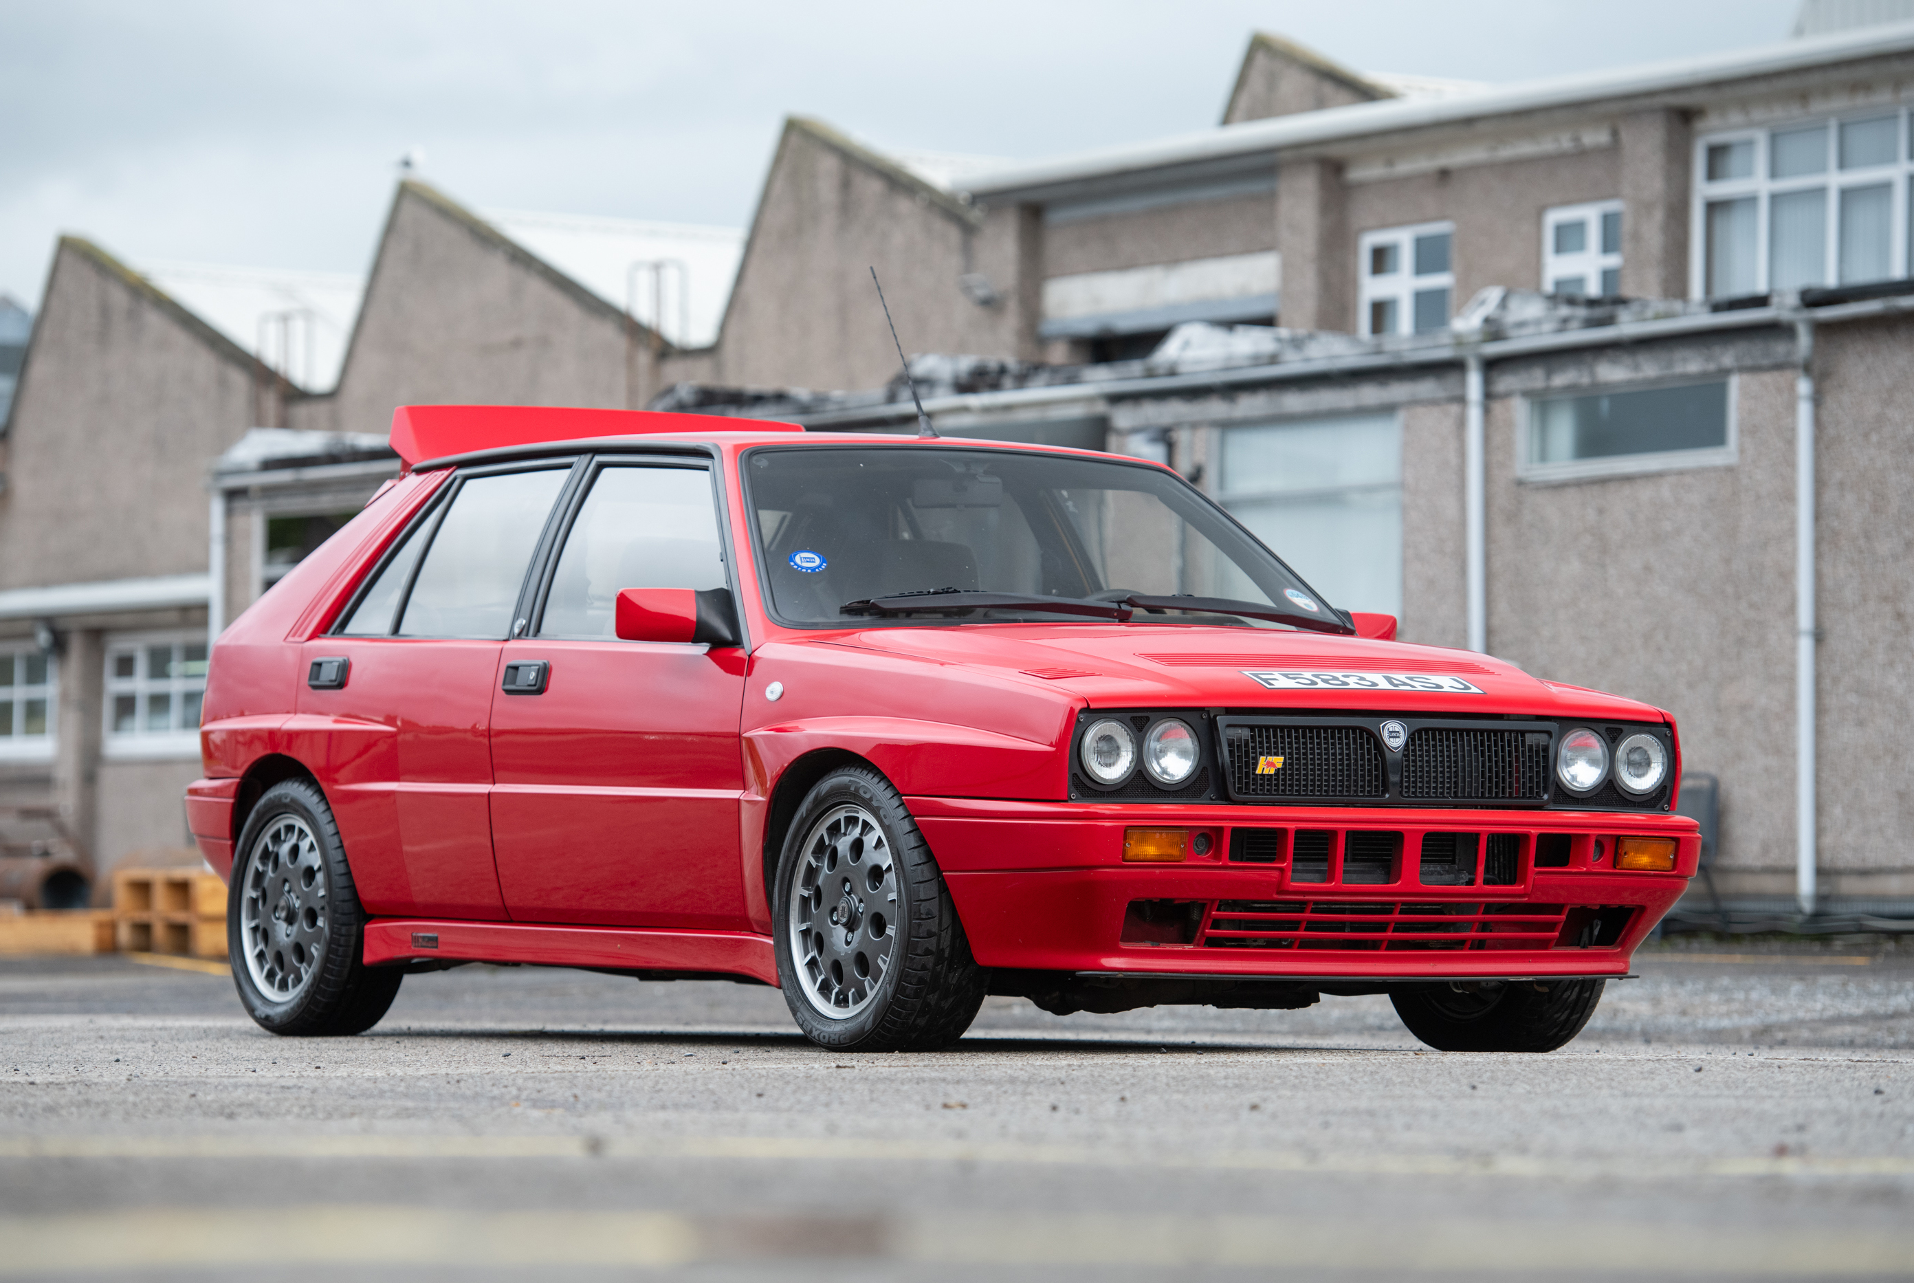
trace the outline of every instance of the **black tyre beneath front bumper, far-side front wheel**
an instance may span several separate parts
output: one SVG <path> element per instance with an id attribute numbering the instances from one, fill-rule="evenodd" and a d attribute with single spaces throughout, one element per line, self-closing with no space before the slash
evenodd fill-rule
<path id="1" fill-rule="evenodd" d="M 1390 994 L 1409 1032 L 1437 1051 L 1554 1051 L 1594 1015 L 1604 980 L 1416 984 Z"/>

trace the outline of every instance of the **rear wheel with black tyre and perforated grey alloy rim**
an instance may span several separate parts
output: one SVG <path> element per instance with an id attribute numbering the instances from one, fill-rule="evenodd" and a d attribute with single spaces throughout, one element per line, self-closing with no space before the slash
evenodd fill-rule
<path id="1" fill-rule="evenodd" d="M 247 1013 L 274 1034 L 362 1034 L 404 973 L 367 967 L 366 913 L 325 795 L 306 779 L 266 789 L 234 850 L 226 952 Z"/>

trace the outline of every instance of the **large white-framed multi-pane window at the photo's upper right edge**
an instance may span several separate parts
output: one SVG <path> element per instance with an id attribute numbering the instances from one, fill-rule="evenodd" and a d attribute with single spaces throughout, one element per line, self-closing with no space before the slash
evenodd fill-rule
<path id="1" fill-rule="evenodd" d="M 1908 147 L 1901 109 L 1698 138 L 1694 297 L 1906 276 Z"/>

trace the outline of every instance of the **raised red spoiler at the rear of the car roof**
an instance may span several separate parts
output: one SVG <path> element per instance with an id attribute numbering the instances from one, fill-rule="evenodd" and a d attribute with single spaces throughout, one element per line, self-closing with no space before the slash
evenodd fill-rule
<path id="1" fill-rule="evenodd" d="M 534 446 L 545 440 L 643 437 L 655 433 L 802 433 L 800 423 L 733 419 L 722 414 L 576 410 L 568 406 L 400 406 L 392 412 L 392 450 L 412 469 L 475 450 Z"/>

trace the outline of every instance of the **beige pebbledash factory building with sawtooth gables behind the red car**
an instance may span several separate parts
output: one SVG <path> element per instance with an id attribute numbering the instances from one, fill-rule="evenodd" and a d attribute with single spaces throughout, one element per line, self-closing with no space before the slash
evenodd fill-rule
<path id="1" fill-rule="evenodd" d="M 940 431 L 1166 458 L 1338 605 L 1673 709 L 1744 921 L 1914 915 L 1910 105 L 1914 25 L 1506 88 L 1256 36 L 1223 124 L 1095 155 L 792 119 L 735 266 L 406 182 L 335 373 L 67 241 L 0 496 L 59 712 L 0 783 L 103 864 L 184 841 L 195 647 L 390 473 L 394 404 L 905 421 L 877 266 Z"/>

